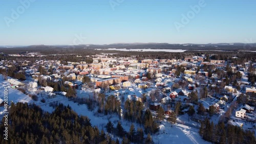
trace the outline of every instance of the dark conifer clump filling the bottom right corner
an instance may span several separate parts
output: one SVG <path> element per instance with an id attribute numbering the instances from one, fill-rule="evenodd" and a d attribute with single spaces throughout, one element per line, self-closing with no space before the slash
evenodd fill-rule
<path id="1" fill-rule="evenodd" d="M 225 126 L 223 122 L 215 125 L 208 118 L 205 118 L 205 121 L 201 122 L 199 134 L 204 140 L 212 143 L 256 143 L 253 132 L 245 131 L 237 126 Z"/>

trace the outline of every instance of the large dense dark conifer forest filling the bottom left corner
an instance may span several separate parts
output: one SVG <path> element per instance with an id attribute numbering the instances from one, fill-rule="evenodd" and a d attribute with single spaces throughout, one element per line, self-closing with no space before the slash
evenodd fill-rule
<path id="1" fill-rule="evenodd" d="M 115 143 L 103 130 L 92 127 L 87 116 L 78 116 L 63 104 L 49 113 L 35 104 L 12 103 L 8 118 L 8 141 L 0 135 L 0 143 Z"/>

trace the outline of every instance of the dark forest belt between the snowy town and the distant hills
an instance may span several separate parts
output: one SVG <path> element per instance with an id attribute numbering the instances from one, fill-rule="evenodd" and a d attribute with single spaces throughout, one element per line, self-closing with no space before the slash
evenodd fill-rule
<path id="1" fill-rule="evenodd" d="M 5 53 L 13 53 L 16 54 L 17 51 L 13 51 L 14 49 L 5 50 Z M 21 51 L 21 49 L 19 49 Z M 29 49 L 27 50 L 29 51 Z M 33 50 L 34 52 L 35 50 Z M 93 55 L 102 54 L 102 51 L 94 50 L 94 49 L 83 49 L 83 48 L 75 48 L 71 49 L 56 47 L 56 49 L 52 49 L 49 51 L 48 49 L 41 50 L 38 49 L 36 52 L 46 54 L 46 57 L 9 57 L 9 56 L 0 56 L 1 59 L 7 60 L 29 60 L 34 62 L 35 60 L 60 60 L 60 61 L 72 61 L 72 62 L 80 62 L 86 61 L 87 63 L 92 63 L 93 59 L 91 58 Z M 59 55 L 52 55 L 52 53 Z M 236 51 L 185 51 L 183 53 L 171 53 L 171 52 L 136 52 L 136 51 L 104 51 L 106 57 L 133 57 L 138 60 L 143 59 L 184 59 L 185 57 L 193 57 L 193 56 L 206 56 L 206 61 L 209 59 L 216 60 L 230 60 L 230 62 L 234 64 L 243 64 L 247 61 L 255 62 L 256 56 L 251 52 L 236 52 Z M 60 55 L 61 54 L 61 55 Z M 82 57 L 76 57 L 77 55 Z M 89 57 L 86 57 L 89 56 Z M 233 58 L 238 57 L 238 58 Z"/>

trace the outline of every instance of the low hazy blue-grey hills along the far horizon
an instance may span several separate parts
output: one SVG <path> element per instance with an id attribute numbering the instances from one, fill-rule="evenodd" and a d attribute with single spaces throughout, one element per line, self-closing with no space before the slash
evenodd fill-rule
<path id="1" fill-rule="evenodd" d="M 29 46 L 0 46 L 1 48 L 23 49 L 58 49 L 58 48 L 88 48 L 88 49 L 182 49 L 182 50 L 216 50 L 216 51 L 256 51 L 256 43 L 207 43 L 207 44 L 169 44 L 169 43 L 112 43 L 112 44 L 80 44 L 80 45 L 29 45 Z"/>

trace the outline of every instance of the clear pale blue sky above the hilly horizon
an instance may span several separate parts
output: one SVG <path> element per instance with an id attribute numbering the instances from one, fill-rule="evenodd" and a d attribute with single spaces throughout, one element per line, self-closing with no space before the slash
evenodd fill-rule
<path id="1" fill-rule="evenodd" d="M 0 45 L 256 42 L 255 0 L 30 1 L 0 1 Z"/>

